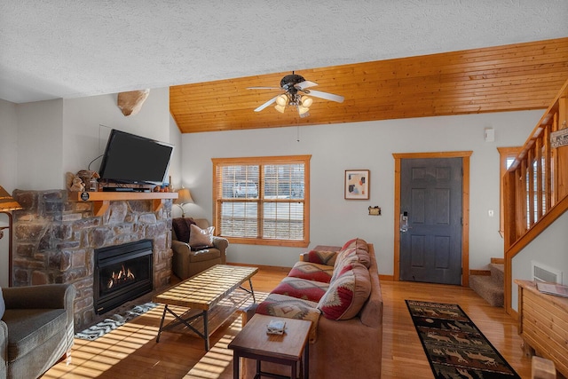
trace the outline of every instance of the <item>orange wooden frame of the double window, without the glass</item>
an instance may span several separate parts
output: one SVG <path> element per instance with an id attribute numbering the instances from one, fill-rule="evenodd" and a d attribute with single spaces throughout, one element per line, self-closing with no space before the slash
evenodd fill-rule
<path id="1" fill-rule="evenodd" d="M 226 238 L 231 243 L 247 244 L 247 245 L 267 245 L 267 246 L 284 246 L 293 248 L 306 248 L 310 244 L 310 160 L 311 154 L 307 155 L 280 155 L 280 156 L 259 156 L 259 157 L 240 157 L 240 158 L 211 158 L 213 162 L 213 225 L 217 235 Z M 238 165 L 258 165 L 259 166 L 259 182 L 263 180 L 263 167 L 265 165 L 286 165 L 286 164 L 304 164 L 304 199 L 282 200 L 280 202 L 303 202 L 304 203 L 304 239 L 303 240 L 284 240 L 284 239 L 267 239 L 259 237 L 235 237 L 225 236 L 220 228 L 221 225 L 221 205 L 223 203 L 223 186 L 217 186 L 217 168 L 220 166 L 238 166 Z M 258 197 L 254 199 L 241 199 L 241 201 L 257 202 L 259 205 L 264 202 L 263 186 L 258 186 Z M 265 201 L 265 202 L 274 202 Z M 260 219 L 259 219 L 260 220 Z"/>

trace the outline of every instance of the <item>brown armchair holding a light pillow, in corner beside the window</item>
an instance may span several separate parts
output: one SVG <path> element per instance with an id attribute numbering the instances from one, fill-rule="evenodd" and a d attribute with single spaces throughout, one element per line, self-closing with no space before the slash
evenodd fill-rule
<path id="1" fill-rule="evenodd" d="M 214 265 L 226 264 L 229 241 L 213 235 L 205 218 L 178 217 L 172 220 L 172 270 L 185 280 Z"/>

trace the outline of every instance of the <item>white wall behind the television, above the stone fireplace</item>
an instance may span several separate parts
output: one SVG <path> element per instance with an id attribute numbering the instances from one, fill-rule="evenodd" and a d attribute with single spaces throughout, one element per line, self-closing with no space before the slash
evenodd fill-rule
<path id="1" fill-rule="evenodd" d="M 6 122 L 17 125 L 17 137 L 8 139 L 13 147 L 7 145 L 18 146 L 12 155 L 17 157 L 17 187 L 65 188 L 65 173 L 87 169 L 103 154 L 111 129 L 170 142 L 174 129 L 170 127 L 168 88 L 151 90 L 140 112 L 128 117 L 116 105 L 116 98 L 117 94 L 109 94 L 12 105 L 17 118 Z M 6 103 L 11 104 L 4 101 L 4 107 Z M 179 131 L 172 138 L 178 140 Z M 91 170 L 99 170 L 99 165 L 100 159 L 92 162 Z"/>

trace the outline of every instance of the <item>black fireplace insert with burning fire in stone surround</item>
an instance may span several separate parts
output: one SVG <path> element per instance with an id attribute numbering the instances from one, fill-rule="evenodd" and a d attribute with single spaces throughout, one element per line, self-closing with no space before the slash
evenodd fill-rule
<path id="1" fill-rule="evenodd" d="M 94 305 L 101 314 L 152 291 L 152 240 L 95 249 Z"/>

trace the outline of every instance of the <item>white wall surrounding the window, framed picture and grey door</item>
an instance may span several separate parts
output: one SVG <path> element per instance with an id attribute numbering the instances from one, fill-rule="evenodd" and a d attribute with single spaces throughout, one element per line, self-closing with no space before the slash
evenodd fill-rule
<path id="1" fill-rule="evenodd" d="M 270 112 L 270 110 L 268 110 Z M 183 139 L 183 181 L 203 215 L 212 218 L 211 157 L 312 154 L 311 244 L 341 245 L 352 237 L 375 244 L 382 274 L 393 274 L 393 153 L 472 150 L 470 160 L 469 265 L 484 268 L 491 257 L 503 256 L 499 230 L 499 162 L 497 146 L 525 143 L 542 111 L 462 116 L 311 127 L 190 133 Z M 485 142 L 484 130 L 495 130 Z M 299 132 L 299 141 L 296 141 Z M 369 169 L 370 200 L 343 199 L 344 170 Z M 378 205 L 383 216 L 368 216 Z M 487 210 L 494 210 L 488 217 Z M 293 265 L 301 249 L 254 245 L 230 246 L 230 262 Z"/>

